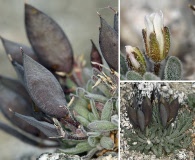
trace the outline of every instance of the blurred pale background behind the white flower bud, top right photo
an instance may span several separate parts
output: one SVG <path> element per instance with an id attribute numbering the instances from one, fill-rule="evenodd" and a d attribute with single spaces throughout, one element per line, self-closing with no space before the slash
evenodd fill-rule
<path id="1" fill-rule="evenodd" d="M 182 61 L 184 79 L 195 80 L 195 14 L 188 7 L 195 0 L 120 0 L 120 4 L 121 51 L 125 53 L 125 45 L 144 50 L 145 15 L 162 10 L 164 25 L 171 32 L 169 55 Z"/>

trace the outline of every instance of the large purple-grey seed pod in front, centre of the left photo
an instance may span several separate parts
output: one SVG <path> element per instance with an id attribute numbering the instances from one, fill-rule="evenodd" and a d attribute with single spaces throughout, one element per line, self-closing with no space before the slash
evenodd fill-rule
<path id="1" fill-rule="evenodd" d="M 50 116 L 66 117 L 69 111 L 65 95 L 54 75 L 25 54 L 23 65 L 26 88 L 36 106 Z"/>

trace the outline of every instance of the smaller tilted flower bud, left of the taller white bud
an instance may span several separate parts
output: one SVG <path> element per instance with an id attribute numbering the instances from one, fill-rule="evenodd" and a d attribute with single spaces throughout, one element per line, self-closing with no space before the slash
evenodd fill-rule
<path id="1" fill-rule="evenodd" d="M 146 72 L 146 62 L 139 48 L 132 46 L 125 47 L 128 67 L 143 75 Z"/>

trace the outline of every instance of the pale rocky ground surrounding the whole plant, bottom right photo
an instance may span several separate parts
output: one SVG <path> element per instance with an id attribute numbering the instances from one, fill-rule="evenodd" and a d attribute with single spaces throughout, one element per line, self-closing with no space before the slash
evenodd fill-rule
<path id="1" fill-rule="evenodd" d="M 120 113 L 120 118 L 121 118 L 121 126 L 125 127 L 127 129 L 131 129 L 131 124 L 129 122 L 129 118 L 127 117 L 126 113 L 126 107 L 125 104 L 127 104 L 127 101 L 131 98 L 133 90 L 132 90 L 132 83 L 128 82 L 122 82 L 121 83 L 121 92 L 120 92 L 120 106 L 121 106 L 121 113 Z M 173 97 L 179 97 L 180 103 L 185 104 L 186 100 L 186 95 L 190 93 L 195 93 L 195 83 L 148 83 L 148 82 L 143 82 L 139 83 L 138 88 L 139 90 L 142 90 L 142 95 L 148 95 L 150 96 L 150 91 L 153 90 L 153 87 L 157 87 L 161 95 L 163 97 L 168 97 L 170 95 L 173 95 Z M 158 159 L 155 155 L 150 153 L 149 155 L 141 154 L 136 151 L 130 151 L 129 147 L 127 145 L 127 139 L 123 137 L 124 131 L 121 130 L 121 148 L 120 148 L 120 156 L 121 160 L 122 159 L 127 159 L 127 160 L 156 160 Z M 194 128 L 192 130 L 192 133 L 195 133 L 195 124 Z M 193 144 L 194 145 L 194 144 Z M 193 146 L 195 147 L 195 146 Z M 182 149 L 179 151 L 176 151 L 173 154 L 170 154 L 168 156 L 163 155 L 161 157 L 161 160 L 194 160 L 195 154 L 193 150 L 186 150 Z"/>

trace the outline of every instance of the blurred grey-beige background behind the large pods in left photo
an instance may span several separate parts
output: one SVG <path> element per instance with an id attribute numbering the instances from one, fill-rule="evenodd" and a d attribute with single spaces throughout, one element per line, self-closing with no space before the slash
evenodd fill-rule
<path id="1" fill-rule="evenodd" d="M 75 55 L 84 54 L 90 60 L 90 39 L 99 48 L 99 12 L 113 26 L 114 12 L 108 6 L 118 9 L 117 0 L 0 0 L 0 36 L 5 39 L 29 45 L 24 27 L 24 2 L 38 8 L 52 17 L 64 30 L 72 44 Z M 0 74 L 16 78 L 0 42 Z M 0 114 L 0 121 L 6 121 Z M 9 122 L 6 121 L 9 124 Z M 48 150 L 47 150 L 48 151 Z M 51 151 L 51 150 L 49 150 Z M 23 159 L 25 155 L 40 155 L 45 150 L 26 145 L 0 130 L 0 159 Z"/>

